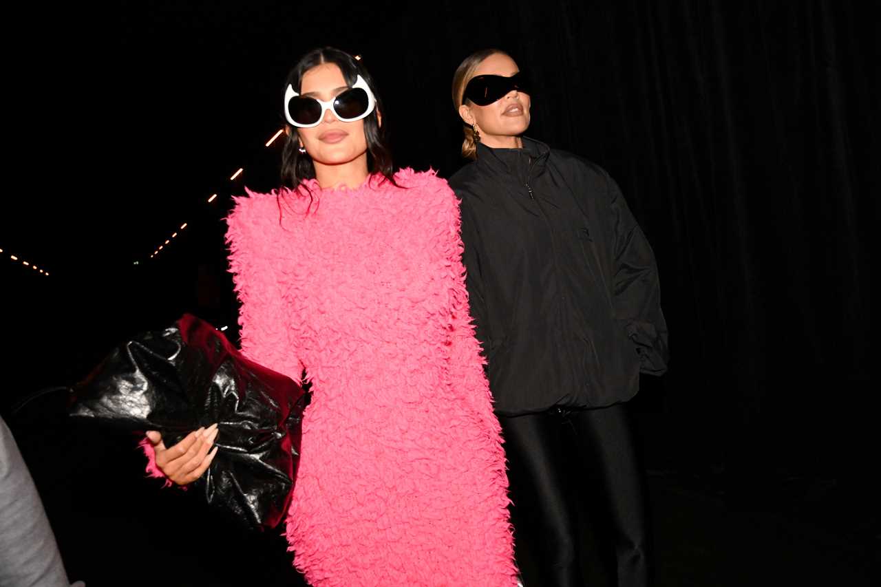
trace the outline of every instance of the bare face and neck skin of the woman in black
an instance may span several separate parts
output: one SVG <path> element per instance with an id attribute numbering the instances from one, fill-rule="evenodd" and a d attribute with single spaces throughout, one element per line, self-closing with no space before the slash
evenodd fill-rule
<path id="1" fill-rule="evenodd" d="M 510 78 L 520 71 L 517 63 L 507 55 L 494 53 L 478 65 L 472 77 L 482 75 Z M 480 133 L 480 142 L 494 149 L 521 149 L 520 136 L 529 128 L 528 93 L 511 90 L 505 96 L 488 104 L 478 106 L 465 100 L 459 107 L 459 116 L 464 123 L 475 127 Z"/>

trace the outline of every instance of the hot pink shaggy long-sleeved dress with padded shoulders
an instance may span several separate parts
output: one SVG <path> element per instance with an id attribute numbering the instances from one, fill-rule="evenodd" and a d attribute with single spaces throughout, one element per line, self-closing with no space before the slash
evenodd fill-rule
<path id="1" fill-rule="evenodd" d="M 287 519 L 315 587 L 516 584 L 500 427 L 464 286 L 458 201 L 396 187 L 248 192 L 227 219 L 241 347 L 314 398 Z M 307 205 L 310 212 L 307 213 Z"/>

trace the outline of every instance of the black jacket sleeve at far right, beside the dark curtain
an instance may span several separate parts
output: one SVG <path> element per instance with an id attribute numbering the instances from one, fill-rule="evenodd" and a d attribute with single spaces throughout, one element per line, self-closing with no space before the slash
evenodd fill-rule
<path id="1" fill-rule="evenodd" d="M 627 207 L 618 183 L 608 174 L 605 177 L 614 234 L 615 314 L 625 322 L 627 337 L 640 355 L 640 371 L 662 375 L 667 370 L 669 355 L 655 254 Z"/>

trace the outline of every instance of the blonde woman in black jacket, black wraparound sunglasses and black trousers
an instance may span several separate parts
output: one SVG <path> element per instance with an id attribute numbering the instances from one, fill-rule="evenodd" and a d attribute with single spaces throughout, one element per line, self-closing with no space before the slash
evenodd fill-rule
<path id="1" fill-rule="evenodd" d="M 592 519 L 608 523 L 599 539 L 613 546 L 617 584 L 647 585 L 648 512 L 625 402 L 640 371 L 666 370 L 655 257 L 603 169 L 522 137 L 529 85 L 510 56 L 486 49 L 465 59 L 453 101 L 473 160 L 449 181 L 462 200 L 471 314 L 516 530 L 538 546 L 542 576 L 525 583 L 582 584 L 573 498 L 587 492 Z M 576 486 L 580 477 L 589 487 Z"/>

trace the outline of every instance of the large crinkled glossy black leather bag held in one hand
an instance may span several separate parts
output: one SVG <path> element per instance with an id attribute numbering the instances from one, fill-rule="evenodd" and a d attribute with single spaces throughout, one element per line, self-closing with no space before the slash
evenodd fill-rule
<path id="1" fill-rule="evenodd" d="M 195 482 L 212 505 L 251 527 L 287 512 L 300 461 L 306 394 L 248 360 L 211 324 L 184 315 L 115 349 L 74 388 L 70 414 L 132 431 L 159 430 L 172 446 L 218 423 L 218 454 Z"/>

